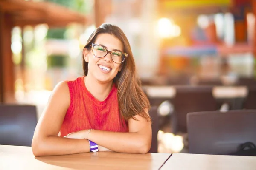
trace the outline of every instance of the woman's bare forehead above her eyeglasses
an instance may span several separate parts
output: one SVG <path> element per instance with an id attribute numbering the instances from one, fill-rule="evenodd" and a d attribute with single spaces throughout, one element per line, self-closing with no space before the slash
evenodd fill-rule
<path id="1" fill-rule="evenodd" d="M 123 51 L 122 42 L 111 34 L 99 34 L 94 43 L 104 45 L 109 51 L 113 49 Z"/>

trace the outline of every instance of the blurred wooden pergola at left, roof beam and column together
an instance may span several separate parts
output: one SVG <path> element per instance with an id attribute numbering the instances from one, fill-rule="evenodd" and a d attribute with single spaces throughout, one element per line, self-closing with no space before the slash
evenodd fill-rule
<path id="1" fill-rule="evenodd" d="M 12 62 L 11 31 L 15 26 L 47 24 L 49 28 L 70 23 L 84 25 L 87 18 L 50 2 L 0 0 L 0 102 L 15 102 L 15 73 Z"/>

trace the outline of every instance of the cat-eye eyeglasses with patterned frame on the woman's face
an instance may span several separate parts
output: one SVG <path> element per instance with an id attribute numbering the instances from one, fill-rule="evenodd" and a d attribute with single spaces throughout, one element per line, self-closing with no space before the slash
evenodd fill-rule
<path id="1" fill-rule="evenodd" d="M 128 57 L 128 54 L 123 53 L 121 51 L 108 51 L 106 48 L 102 47 L 101 45 L 92 44 L 91 45 L 93 55 L 98 58 L 105 57 L 108 53 L 111 56 L 111 59 L 116 64 L 125 61 L 125 58 Z"/>

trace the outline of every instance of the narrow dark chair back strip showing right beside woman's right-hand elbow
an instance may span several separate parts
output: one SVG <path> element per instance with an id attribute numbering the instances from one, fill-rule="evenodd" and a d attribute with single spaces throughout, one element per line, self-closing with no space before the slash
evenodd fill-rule
<path id="1" fill-rule="evenodd" d="M 158 116 L 157 116 L 157 106 L 152 106 L 149 111 L 149 116 L 152 119 L 152 140 L 151 140 L 151 148 L 149 152 L 157 153 L 158 142 L 157 142 L 157 133 L 158 133 Z"/>

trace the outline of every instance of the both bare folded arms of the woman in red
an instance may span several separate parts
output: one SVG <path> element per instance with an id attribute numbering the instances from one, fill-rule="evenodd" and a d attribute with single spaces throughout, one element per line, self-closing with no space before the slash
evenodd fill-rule
<path id="1" fill-rule="evenodd" d="M 138 120 L 128 121 L 129 133 L 92 130 L 87 136 L 88 130 L 81 130 L 66 138 L 58 137 L 69 105 L 70 94 L 67 83 L 61 82 L 52 92 L 35 129 L 32 140 L 32 150 L 35 156 L 89 152 L 87 139 L 101 145 L 99 150 L 108 148 L 122 153 L 147 153 L 150 149 L 151 124 L 138 115 L 135 116 Z"/>

